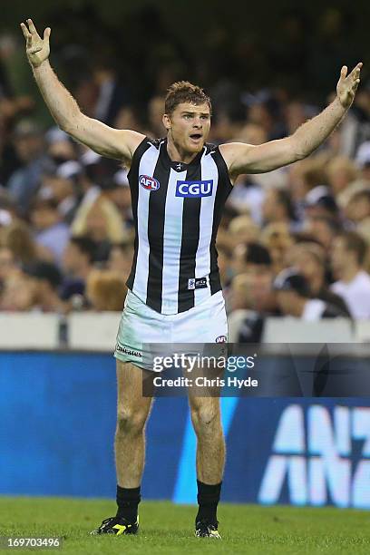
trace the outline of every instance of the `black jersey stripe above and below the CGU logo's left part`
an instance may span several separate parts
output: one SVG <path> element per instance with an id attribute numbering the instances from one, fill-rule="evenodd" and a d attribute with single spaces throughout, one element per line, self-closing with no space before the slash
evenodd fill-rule
<path id="1" fill-rule="evenodd" d="M 201 180 L 201 163 L 189 166 L 186 180 Z M 180 273 L 178 311 L 184 312 L 195 305 L 194 290 L 189 289 L 189 278 L 195 277 L 195 263 L 200 242 L 200 203 L 199 199 L 184 199 L 182 209 L 182 237 L 180 250 Z"/>

